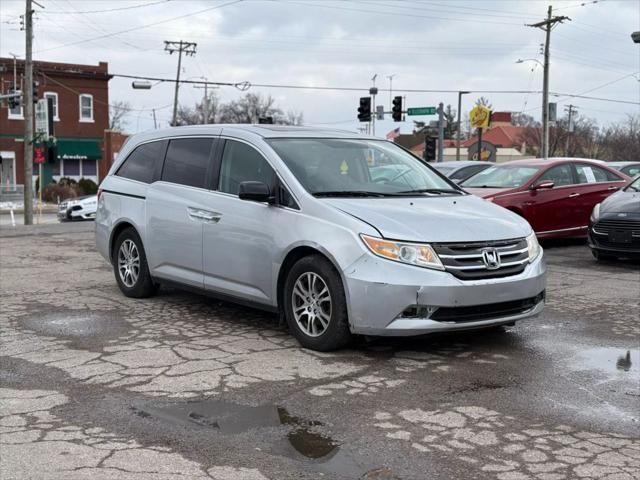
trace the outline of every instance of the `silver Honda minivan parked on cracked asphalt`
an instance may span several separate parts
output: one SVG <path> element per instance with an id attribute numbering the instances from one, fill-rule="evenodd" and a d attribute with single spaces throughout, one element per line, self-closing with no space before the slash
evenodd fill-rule
<path id="1" fill-rule="evenodd" d="M 203 125 L 129 139 L 98 193 L 120 290 L 160 284 L 277 311 L 307 348 L 539 314 L 529 224 L 394 143 L 351 132 Z"/>

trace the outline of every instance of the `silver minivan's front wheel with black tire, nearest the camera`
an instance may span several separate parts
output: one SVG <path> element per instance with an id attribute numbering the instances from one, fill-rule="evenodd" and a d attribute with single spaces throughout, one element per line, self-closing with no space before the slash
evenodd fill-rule
<path id="1" fill-rule="evenodd" d="M 326 352 L 351 341 L 342 280 L 325 257 L 310 255 L 293 265 L 283 302 L 289 330 L 303 347 Z"/>

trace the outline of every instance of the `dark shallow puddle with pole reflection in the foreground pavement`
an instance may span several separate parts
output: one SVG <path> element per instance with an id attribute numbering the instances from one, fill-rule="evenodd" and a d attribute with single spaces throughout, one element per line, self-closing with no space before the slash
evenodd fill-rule
<path id="1" fill-rule="evenodd" d="M 270 445 L 272 453 L 304 462 L 312 470 L 344 475 L 348 478 L 393 479 L 391 470 L 364 465 L 328 435 L 322 423 L 291 415 L 276 405 L 257 407 L 218 400 L 187 402 L 166 407 L 132 407 L 145 418 L 156 418 L 183 426 L 210 428 L 223 435 L 234 435 L 252 429 L 286 427 L 286 439 Z M 379 466 L 378 466 L 379 467 Z M 380 477 L 370 476 L 382 472 Z"/>

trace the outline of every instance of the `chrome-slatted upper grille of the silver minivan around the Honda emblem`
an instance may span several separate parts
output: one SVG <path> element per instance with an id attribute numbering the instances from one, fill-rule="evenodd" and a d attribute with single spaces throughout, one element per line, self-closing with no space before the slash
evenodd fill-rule
<path id="1" fill-rule="evenodd" d="M 447 272 L 461 280 L 508 277 L 522 273 L 529 261 L 527 240 L 432 244 Z M 495 249 L 500 259 L 498 268 L 490 269 L 483 251 Z"/>

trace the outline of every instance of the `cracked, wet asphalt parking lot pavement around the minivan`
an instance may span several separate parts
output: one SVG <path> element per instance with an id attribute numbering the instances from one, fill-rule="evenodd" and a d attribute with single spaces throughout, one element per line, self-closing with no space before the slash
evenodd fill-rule
<path id="1" fill-rule="evenodd" d="M 122 296 L 93 225 L 0 229 L 0 477 L 640 478 L 640 268 L 548 245 L 507 331 L 301 349 L 277 318 Z"/>

